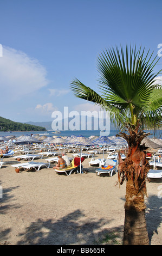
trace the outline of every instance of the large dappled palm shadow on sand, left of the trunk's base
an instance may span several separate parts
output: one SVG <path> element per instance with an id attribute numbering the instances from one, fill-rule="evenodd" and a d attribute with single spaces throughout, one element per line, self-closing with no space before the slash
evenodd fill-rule
<path id="1" fill-rule="evenodd" d="M 19 235 L 22 239 L 17 245 L 113 245 L 121 242 L 123 226 L 107 229 L 103 226 L 111 220 L 89 218 L 83 221 L 84 217 L 82 211 L 76 210 L 56 222 L 51 218 L 46 221 L 38 218 Z"/>

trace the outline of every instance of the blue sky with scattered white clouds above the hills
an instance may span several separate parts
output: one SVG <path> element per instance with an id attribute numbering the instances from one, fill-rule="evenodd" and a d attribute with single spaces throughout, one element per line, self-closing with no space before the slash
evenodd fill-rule
<path id="1" fill-rule="evenodd" d="M 136 44 L 157 54 L 161 10 L 161 0 L 1 0 L 0 116 L 51 121 L 64 106 L 93 110 L 70 82 L 98 90 L 96 58 L 105 48 Z"/>

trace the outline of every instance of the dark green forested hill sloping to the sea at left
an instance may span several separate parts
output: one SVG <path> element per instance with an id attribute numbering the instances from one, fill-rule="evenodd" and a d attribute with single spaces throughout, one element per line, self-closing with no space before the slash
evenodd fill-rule
<path id="1" fill-rule="evenodd" d="M 45 127 L 23 124 L 0 117 L 0 131 L 46 131 Z"/>

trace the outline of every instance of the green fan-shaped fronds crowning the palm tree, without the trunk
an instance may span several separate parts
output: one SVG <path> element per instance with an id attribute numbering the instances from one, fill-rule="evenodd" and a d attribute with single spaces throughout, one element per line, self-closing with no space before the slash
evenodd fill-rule
<path id="1" fill-rule="evenodd" d="M 161 123 L 161 86 L 154 84 L 153 69 L 157 64 L 157 57 L 145 49 L 127 45 L 103 51 L 98 57 L 98 71 L 100 74 L 100 93 L 75 79 L 70 83 L 75 96 L 99 104 L 106 111 L 110 111 L 111 118 L 121 125 L 127 121 L 135 124 L 138 118 L 145 127 L 152 127 L 157 121 Z M 145 119 L 145 121 L 144 121 Z"/>

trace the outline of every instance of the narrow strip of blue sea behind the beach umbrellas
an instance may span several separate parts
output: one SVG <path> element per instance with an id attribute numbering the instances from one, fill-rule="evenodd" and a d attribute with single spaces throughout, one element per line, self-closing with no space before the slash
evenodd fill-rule
<path id="1" fill-rule="evenodd" d="M 56 136 L 85 136 L 85 137 L 90 137 L 92 135 L 94 136 L 105 136 L 104 132 L 102 134 L 100 133 L 100 130 L 78 130 L 78 131 L 60 131 L 60 133 L 54 133 L 55 131 L 50 130 L 50 131 L 12 131 L 12 132 L 0 132 L 0 136 L 8 136 L 8 135 L 13 135 L 15 137 L 19 137 L 21 135 L 46 135 L 48 137 L 53 137 L 54 135 Z M 116 134 L 119 134 L 120 131 L 118 130 L 110 130 L 109 134 L 106 133 L 106 136 L 115 136 Z M 151 134 L 148 136 L 148 138 L 156 137 L 156 138 L 161 138 L 162 137 L 162 130 L 156 130 L 156 131 L 145 131 L 145 132 L 150 132 Z"/>

